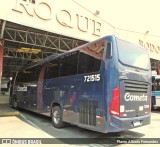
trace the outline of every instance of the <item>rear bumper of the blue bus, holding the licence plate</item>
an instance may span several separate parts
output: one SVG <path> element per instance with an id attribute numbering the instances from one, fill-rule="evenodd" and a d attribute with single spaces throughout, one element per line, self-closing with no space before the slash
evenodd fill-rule
<path id="1" fill-rule="evenodd" d="M 151 116 L 145 115 L 133 118 L 118 118 L 110 116 L 109 120 L 111 120 L 111 122 L 107 125 L 108 132 L 119 132 L 148 125 L 151 122 Z"/>

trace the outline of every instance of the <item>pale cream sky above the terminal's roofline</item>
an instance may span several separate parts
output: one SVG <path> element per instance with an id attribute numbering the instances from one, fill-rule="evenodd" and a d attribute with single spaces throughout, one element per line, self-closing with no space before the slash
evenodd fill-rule
<path id="1" fill-rule="evenodd" d="M 160 0 L 73 0 L 125 30 L 160 36 Z"/>

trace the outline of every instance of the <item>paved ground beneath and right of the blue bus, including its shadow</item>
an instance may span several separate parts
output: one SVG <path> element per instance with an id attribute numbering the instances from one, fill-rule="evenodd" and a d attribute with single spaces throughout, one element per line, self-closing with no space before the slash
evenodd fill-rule
<path id="1" fill-rule="evenodd" d="M 21 111 L 19 118 L 26 123 L 39 128 L 43 132 L 49 134 L 53 138 L 100 138 L 103 144 L 102 138 L 111 137 L 111 142 L 114 142 L 114 138 L 160 138 L 160 110 L 152 112 L 151 115 L 152 123 L 147 126 L 135 128 L 132 130 L 127 130 L 119 133 L 98 133 L 77 126 L 68 125 L 63 129 L 56 129 L 52 126 L 51 120 L 48 117 L 30 113 L 27 111 Z M 64 140 L 61 140 L 62 142 Z M 82 140 L 83 141 L 83 140 Z M 65 141 L 64 141 L 65 143 Z M 107 145 L 105 145 L 107 146 Z M 118 145 L 122 146 L 122 145 Z M 123 145 L 124 146 L 124 145 Z M 135 146 L 135 145 L 125 145 L 125 146 Z M 146 144 L 141 145 L 146 146 Z M 151 146 L 151 145 L 148 145 Z M 153 145 L 152 145 L 153 146 Z"/>

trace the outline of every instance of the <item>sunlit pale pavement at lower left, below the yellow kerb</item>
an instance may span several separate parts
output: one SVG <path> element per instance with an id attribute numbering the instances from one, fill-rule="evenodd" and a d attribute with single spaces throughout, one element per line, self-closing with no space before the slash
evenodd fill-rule
<path id="1" fill-rule="evenodd" d="M 30 121 L 26 121 L 16 116 L 0 117 L 0 138 L 53 138 Z"/>

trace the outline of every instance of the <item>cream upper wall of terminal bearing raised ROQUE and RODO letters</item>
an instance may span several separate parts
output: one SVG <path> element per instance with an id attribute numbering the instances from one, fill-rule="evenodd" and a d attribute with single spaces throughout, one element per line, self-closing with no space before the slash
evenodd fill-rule
<path id="1" fill-rule="evenodd" d="M 116 35 L 148 49 L 150 57 L 160 60 L 160 43 L 156 37 L 120 31 L 80 7 L 72 0 L 0 0 L 0 19 L 18 24 L 92 41 Z M 108 14 L 109 15 L 109 14 Z"/>

